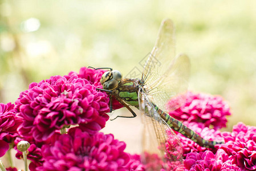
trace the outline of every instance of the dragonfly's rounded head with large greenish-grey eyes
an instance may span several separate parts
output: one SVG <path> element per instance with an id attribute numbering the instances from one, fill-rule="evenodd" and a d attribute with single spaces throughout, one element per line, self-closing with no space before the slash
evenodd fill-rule
<path id="1" fill-rule="evenodd" d="M 119 82 L 122 79 L 122 74 L 120 71 L 113 70 L 104 72 L 101 76 L 100 83 L 103 86 L 103 89 L 112 90 L 117 88 Z"/>

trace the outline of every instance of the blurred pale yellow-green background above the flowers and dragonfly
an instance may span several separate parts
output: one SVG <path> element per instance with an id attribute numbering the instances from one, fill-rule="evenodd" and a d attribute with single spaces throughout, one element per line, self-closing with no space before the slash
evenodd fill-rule
<path id="1" fill-rule="evenodd" d="M 0 1 L 0 101 L 31 82 L 112 67 L 128 74 L 152 50 L 164 18 L 192 63 L 189 89 L 223 96 L 256 125 L 256 1 Z"/>

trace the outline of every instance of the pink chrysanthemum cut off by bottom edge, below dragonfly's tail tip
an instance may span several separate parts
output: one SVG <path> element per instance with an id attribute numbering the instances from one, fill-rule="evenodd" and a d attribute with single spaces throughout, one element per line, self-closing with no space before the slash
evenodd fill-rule
<path id="1" fill-rule="evenodd" d="M 226 153 L 222 150 L 218 150 L 216 154 L 209 150 L 200 153 L 189 153 L 184 160 L 184 165 L 186 171 L 241 171 L 241 169 L 239 169 L 236 165 L 231 164 L 231 161 L 228 160 Z"/>

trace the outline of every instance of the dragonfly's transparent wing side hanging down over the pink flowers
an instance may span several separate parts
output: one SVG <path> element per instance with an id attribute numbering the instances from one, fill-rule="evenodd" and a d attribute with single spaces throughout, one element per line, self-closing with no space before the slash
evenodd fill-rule
<path id="1" fill-rule="evenodd" d="M 162 167 L 173 170 L 182 166 L 180 140 L 161 119 L 144 92 L 141 92 L 139 107 L 144 124 L 143 151 L 146 166 L 152 170 L 160 170 Z"/>

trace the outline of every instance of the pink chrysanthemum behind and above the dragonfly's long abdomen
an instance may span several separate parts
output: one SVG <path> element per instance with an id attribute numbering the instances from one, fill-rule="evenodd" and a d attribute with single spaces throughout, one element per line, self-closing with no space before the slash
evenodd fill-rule
<path id="1" fill-rule="evenodd" d="M 171 99 L 168 104 L 172 105 L 175 100 Z M 185 104 L 170 111 L 169 115 L 180 121 L 204 123 L 205 127 L 218 129 L 226 127 L 226 116 L 231 113 L 229 105 L 220 96 L 188 92 Z"/>

